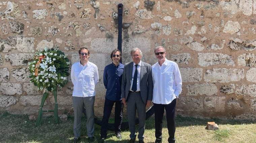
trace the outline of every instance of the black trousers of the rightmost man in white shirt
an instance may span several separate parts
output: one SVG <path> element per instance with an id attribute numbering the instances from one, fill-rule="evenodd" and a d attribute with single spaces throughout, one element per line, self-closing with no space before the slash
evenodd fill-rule
<path id="1" fill-rule="evenodd" d="M 155 136 L 157 140 L 162 140 L 162 128 L 163 128 L 163 115 L 164 109 L 166 111 L 166 120 L 167 120 L 167 129 L 168 129 L 168 142 L 174 143 L 175 138 L 175 108 L 176 108 L 176 99 L 172 100 L 169 104 L 156 104 L 154 103 L 155 109 Z"/>

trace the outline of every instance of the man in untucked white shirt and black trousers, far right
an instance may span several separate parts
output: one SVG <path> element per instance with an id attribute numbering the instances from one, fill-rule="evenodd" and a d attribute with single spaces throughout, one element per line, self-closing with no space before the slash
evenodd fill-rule
<path id="1" fill-rule="evenodd" d="M 155 56 L 158 60 L 152 66 L 153 76 L 153 100 L 155 109 L 155 143 L 162 143 L 163 114 L 166 111 L 168 142 L 174 143 L 175 138 L 175 107 L 176 98 L 182 91 L 181 73 L 177 63 L 165 58 L 163 47 L 155 48 Z"/>

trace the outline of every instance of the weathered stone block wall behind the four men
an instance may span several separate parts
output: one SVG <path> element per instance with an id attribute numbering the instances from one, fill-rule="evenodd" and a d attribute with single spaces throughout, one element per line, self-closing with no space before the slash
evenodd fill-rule
<path id="1" fill-rule="evenodd" d="M 91 50 L 99 69 L 95 115 L 102 116 L 102 74 L 117 48 L 118 7 L 123 4 L 123 63 L 138 47 L 142 60 L 157 62 L 154 47 L 178 63 L 183 91 L 177 114 L 255 119 L 256 0 L 12 0 L 0 2 L 0 110 L 37 115 L 42 92 L 27 77 L 37 50 L 59 47 L 71 63 Z M 72 110 L 72 83 L 58 91 L 59 114 Z M 46 110 L 54 106 L 49 96 Z"/>

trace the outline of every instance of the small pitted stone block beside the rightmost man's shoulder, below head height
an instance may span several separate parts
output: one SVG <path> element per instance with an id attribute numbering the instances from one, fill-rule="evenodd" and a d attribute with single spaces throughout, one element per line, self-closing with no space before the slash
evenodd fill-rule
<path id="1" fill-rule="evenodd" d="M 189 53 L 182 53 L 171 55 L 171 61 L 174 61 L 177 64 L 188 64 L 190 61 L 193 61 L 193 57 L 191 57 Z"/>

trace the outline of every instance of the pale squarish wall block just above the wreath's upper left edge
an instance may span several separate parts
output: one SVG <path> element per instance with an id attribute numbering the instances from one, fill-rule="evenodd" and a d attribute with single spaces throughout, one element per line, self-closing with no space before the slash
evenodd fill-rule
<path id="1" fill-rule="evenodd" d="M 34 53 L 35 38 L 33 37 L 17 37 L 17 50 L 18 52 Z"/>

